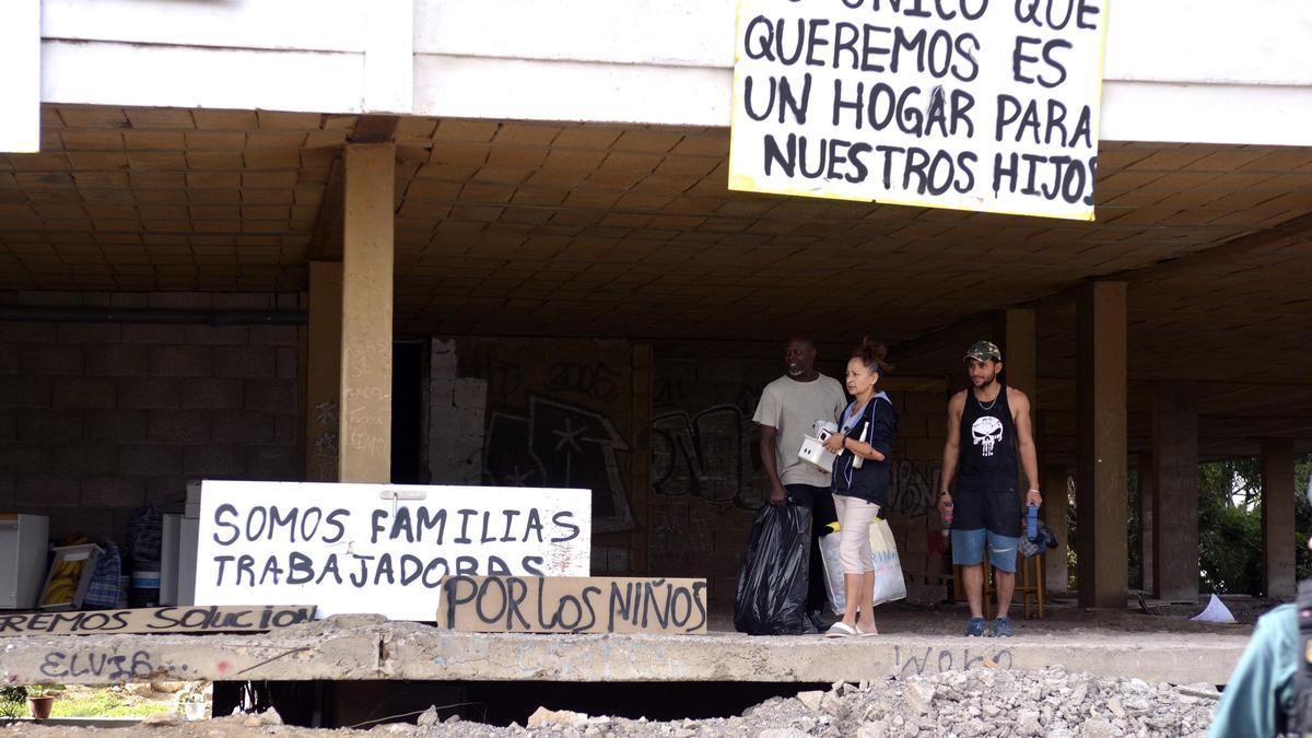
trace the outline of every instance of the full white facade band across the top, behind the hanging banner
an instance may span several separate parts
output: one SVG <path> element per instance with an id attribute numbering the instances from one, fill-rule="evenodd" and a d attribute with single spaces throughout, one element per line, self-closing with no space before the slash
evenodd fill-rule
<path id="1" fill-rule="evenodd" d="M 735 0 L 45 0 L 42 8 L 47 102 L 729 119 Z M 1312 146 L 1312 3 L 1118 0 L 1105 79 L 1103 139 Z"/>

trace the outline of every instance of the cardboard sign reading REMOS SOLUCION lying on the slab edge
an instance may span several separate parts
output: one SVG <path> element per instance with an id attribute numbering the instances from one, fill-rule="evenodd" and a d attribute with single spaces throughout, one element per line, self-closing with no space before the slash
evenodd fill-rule
<path id="1" fill-rule="evenodd" d="M 261 633 L 314 620 L 315 608 L 160 607 L 0 615 L 0 636 L 110 633 Z"/>

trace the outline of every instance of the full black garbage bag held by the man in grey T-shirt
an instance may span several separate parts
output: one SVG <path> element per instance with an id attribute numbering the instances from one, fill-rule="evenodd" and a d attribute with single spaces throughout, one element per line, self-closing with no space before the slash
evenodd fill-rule
<path id="1" fill-rule="evenodd" d="M 733 600 L 733 628 L 753 636 L 815 633 L 807 617 L 811 511 L 765 506 L 752 521 Z"/>

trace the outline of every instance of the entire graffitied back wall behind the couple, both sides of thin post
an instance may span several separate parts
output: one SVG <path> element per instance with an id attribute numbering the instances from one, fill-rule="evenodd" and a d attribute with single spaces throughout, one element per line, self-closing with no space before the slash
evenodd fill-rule
<path id="1" fill-rule="evenodd" d="M 568 483 L 592 486 L 602 507 L 622 495 L 632 519 L 594 534 L 593 574 L 706 578 L 712 605 L 723 611 L 732 607 L 752 520 L 766 495 L 752 415 L 761 390 L 782 373 L 781 351 L 661 341 L 649 348 L 649 380 L 639 361 L 647 355 L 647 347 L 625 341 L 434 339 L 428 467 L 434 483 L 564 485 L 560 469 L 543 466 L 559 454 L 534 449 L 533 439 L 560 437 L 554 433 L 564 432 L 564 423 L 589 427 L 592 445 L 571 452 Z M 832 349 L 829 358 L 838 361 L 823 370 L 837 374 L 845 355 Z M 901 424 L 886 515 L 909 599 L 938 601 L 949 582 L 933 512 L 946 397 L 891 397 Z M 560 427 L 531 428 L 552 423 Z M 611 523 L 594 515 L 600 528 Z"/>

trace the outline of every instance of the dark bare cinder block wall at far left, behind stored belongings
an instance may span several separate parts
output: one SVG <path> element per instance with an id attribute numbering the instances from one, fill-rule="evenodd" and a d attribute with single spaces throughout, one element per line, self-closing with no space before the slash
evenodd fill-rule
<path id="1" fill-rule="evenodd" d="M 7 306 L 295 309 L 297 295 L 41 293 Z M 188 479 L 299 474 L 298 328 L 0 322 L 0 510 L 125 542 Z"/>

